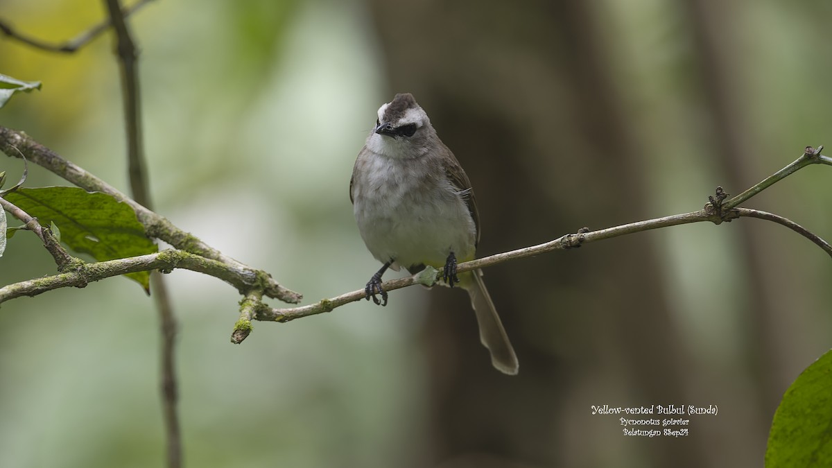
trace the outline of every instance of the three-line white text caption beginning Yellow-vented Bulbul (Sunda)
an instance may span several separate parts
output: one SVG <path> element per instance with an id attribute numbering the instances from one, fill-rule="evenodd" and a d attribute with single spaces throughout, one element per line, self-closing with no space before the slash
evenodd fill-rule
<path id="1" fill-rule="evenodd" d="M 691 433 L 691 416 L 716 416 L 720 412 L 716 405 L 592 405 L 590 410 L 593 415 L 616 416 L 624 436 L 630 437 L 685 437 Z"/>

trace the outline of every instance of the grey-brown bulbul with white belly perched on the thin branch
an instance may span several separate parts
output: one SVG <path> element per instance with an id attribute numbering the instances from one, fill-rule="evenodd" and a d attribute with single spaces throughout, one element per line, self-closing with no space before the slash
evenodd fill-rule
<path id="1" fill-rule="evenodd" d="M 383 264 L 364 287 L 366 299 L 387 305 L 381 278 L 388 268 L 404 267 L 411 274 L 425 266 L 438 268 L 439 284 L 468 291 L 480 341 L 493 366 L 517 374 L 518 358 L 488 295 L 483 271 L 457 272 L 458 261 L 475 258 L 480 236 L 471 182 L 409 92 L 379 107 L 355 160 L 349 200 L 364 244 Z"/>

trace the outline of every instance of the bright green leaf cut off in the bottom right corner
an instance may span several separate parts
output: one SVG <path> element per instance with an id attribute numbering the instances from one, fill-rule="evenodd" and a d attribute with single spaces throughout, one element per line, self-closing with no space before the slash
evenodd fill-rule
<path id="1" fill-rule="evenodd" d="M 807 367 L 775 412 L 765 466 L 832 466 L 832 351 Z"/>

